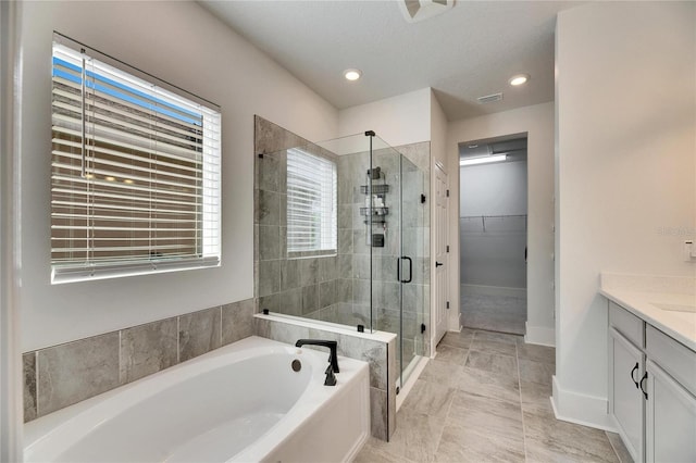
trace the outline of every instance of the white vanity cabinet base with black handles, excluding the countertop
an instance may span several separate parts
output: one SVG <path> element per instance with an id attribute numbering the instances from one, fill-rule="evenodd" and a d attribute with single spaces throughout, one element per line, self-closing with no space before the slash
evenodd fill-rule
<path id="1" fill-rule="evenodd" d="M 636 462 L 696 462 L 696 352 L 609 303 L 609 413 Z"/>

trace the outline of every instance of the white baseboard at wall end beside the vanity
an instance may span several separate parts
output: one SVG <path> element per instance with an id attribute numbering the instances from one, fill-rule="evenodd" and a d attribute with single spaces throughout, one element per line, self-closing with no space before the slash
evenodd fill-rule
<path id="1" fill-rule="evenodd" d="M 551 406 L 557 420 L 617 433 L 613 421 L 609 416 L 608 404 L 609 400 L 606 398 L 586 396 L 561 388 L 558 378 L 554 375 Z"/>

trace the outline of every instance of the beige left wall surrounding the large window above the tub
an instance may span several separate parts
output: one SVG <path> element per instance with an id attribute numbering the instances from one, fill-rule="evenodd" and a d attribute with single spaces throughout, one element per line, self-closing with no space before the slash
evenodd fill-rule
<path id="1" fill-rule="evenodd" d="M 22 350 L 251 298 L 253 115 L 322 140 L 336 136 L 338 112 L 194 2 L 23 7 Z M 221 267 L 50 285 L 53 30 L 222 107 Z"/>

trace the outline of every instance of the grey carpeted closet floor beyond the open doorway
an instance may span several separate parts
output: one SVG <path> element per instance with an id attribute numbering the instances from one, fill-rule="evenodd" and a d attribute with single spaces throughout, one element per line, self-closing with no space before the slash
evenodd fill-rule
<path id="1" fill-rule="evenodd" d="M 524 334 L 526 298 L 462 292 L 461 322 L 472 329 Z"/>

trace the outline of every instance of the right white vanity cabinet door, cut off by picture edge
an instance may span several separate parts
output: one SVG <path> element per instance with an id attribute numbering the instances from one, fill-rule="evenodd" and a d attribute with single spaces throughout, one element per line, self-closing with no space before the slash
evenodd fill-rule
<path id="1" fill-rule="evenodd" d="M 696 398 L 647 362 L 646 461 L 696 462 Z"/>

